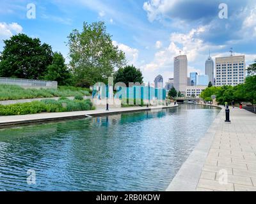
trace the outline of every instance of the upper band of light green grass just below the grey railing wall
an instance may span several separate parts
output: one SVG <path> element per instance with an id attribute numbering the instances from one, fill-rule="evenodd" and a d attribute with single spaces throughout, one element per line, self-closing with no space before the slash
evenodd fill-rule
<path id="1" fill-rule="evenodd" d="M 23 89 L 18 85 L 0 84 L 0 101 L 89 95 L 89 89 L 80 87 L 60 86 L 58 89 Z"/>

